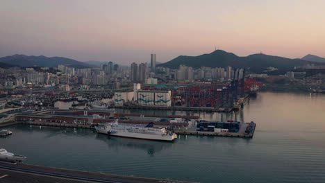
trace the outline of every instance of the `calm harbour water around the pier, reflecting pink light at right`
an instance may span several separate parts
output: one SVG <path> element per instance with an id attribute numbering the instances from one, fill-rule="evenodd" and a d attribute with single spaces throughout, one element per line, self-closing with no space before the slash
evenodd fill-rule
<path id="1" fill-rule="evenodd" d="M 28 164 L 82 171 L 194 182 L 325 182 L 324 107 L 325 95 L 265 92 L 242 112 L 188 113 L 215 121 L 255 121 L 253 139 L 182 135 L 168 143 L 13 125 L 12 136 L 1 138 L 0 146 L 25 155 Z"/>

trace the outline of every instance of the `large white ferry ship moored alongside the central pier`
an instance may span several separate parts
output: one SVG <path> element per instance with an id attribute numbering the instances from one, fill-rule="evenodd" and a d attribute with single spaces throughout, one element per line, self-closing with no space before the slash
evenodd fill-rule
<path id="1" fill-rule="evenodd" d="M 146 126 L 119 125 L 117 121 L 104 126 L 95 127 L 98 133 L 110 134 L 117 137 L 128 137 L 135 139 L 149 139 L 158 141 L 173 141 L 177 134 L 168 132 L 166 128 L 153 128 L 153 122 Z"/>

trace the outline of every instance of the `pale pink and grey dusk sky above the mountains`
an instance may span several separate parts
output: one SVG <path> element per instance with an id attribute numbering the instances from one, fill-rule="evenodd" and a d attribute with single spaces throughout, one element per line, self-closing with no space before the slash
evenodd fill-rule
<path id="1" fill-rule="evenodd" d="M 325 57 L 324 0 L 1 0 L 0 57 L 120 64 L 217 49 Z"/>

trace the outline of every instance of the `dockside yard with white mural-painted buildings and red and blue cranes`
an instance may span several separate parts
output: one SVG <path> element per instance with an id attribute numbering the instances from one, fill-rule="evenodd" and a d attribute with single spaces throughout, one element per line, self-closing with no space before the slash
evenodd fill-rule
<path id="1" fill-rule="evenodd" d="M 231 112 L 239 110 L 248 96 L 256 96 L 260 82 L 239 78 L 229 82 L 199 82 L 192 85 L 133 85 L 133 90 L 115 92 L 110 108 Z"/>

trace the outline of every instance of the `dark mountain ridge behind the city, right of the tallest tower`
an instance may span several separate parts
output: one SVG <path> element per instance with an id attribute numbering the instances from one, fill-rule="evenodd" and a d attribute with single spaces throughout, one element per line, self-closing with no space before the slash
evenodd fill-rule
<path id="1" fill-rule="evenodd" d="M 170 69 L 178 69 L 180 64 L 189 67 L 243 67 L 253 70 L 263 70 L 267 67 L 276 67 L 278 69 L 293 69 L 295 66 L 303 66 L 304 64 L 321 64 L 314 60 L 291 59 L 262 53 L 240 57 L 234 53 L 228 53 L 222 50 L 216 50 L 212 53 L 198 56 L 178 56 L 169 62 L 159 64 L 159 67 L 169 67 Z"/>

